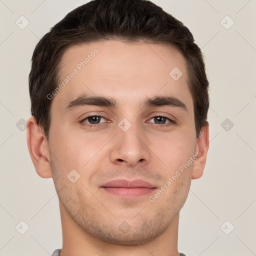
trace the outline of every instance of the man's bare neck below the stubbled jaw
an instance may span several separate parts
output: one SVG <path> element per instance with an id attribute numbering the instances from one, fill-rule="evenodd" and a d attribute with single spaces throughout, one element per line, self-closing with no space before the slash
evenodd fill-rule
<path id="1" fill-rule="evenodd" d="M 178 218 L 177 214 L 168 228 L 155 239 L 135 245 L 113 244 L 81 229 L 70 217 L 59 201 L 62 249 L 60 256 L 179 256 L 177 251 Z"/>

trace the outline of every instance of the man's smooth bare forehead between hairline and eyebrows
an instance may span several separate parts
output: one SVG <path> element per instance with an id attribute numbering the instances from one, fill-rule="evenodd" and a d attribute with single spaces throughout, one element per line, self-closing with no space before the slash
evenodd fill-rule
<path id="1" fill-rule="evenodd" d="M 184 57 L 162 44 L 107 40 L 71 46 L 61 58 L 60 84 L 53 105 L 61 108 L 82 93 L 120 104 L 157 95 L 178 97 L 188 107 L 192 102 Z"/>

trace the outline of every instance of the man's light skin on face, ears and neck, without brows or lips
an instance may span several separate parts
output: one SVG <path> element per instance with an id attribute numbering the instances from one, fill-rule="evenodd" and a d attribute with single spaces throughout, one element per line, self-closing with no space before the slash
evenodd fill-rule
<path id="1" fill-rule="evenodd" d="M 33 117 L 27 121 L 35 169 L 41 177 L 53 178 L 59 198 L 60 255 L 177 256 L 179 210 L 191 179 L 203 173 L 208 150 L 208 124 L 198 138 L 195 135 L 185 59 L 175 48 L 160 44 L 81 44 L 64 53 L 60 82 L 95 48 L 99 52 L 51 99 L 48 141 Z M 174 67 L 183 73 L 176 81 L 169 75 Z M 111 97 L 117 105 L 67 109 L 81 94 Z M 186 110 L 143 105 L 145 98 L 154 96 L 176 97 Z M 104 118 L 95 125 L 89 123 L 91 118 L 84 119 L 88 115 Z M 155 115 L 175 123 L 158 121 Z M 118 126 L 123 118 L 131 124 L 126 131 Z M 153 202 L 149 196 L 155 190 L 124 198 L 100 187 L 117 178 L 143 179 L 158 190 L 198 151 L 200 155 Z M 74 183 L 67 178 L 72 169 L 80 175 Z"/>

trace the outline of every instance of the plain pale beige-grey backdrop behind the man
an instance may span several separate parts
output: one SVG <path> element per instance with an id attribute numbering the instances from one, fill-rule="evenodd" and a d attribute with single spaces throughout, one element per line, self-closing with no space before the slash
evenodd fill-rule
<path id="1" fill-rule="evenodd" d="M 16 123 L 30 116 L 27 77 L 36 43 L 67 12 L 85 2 L 0 0 L 0 255 L 50 255 L 62 245 L 53 181 L 36 174 L 26 131 L 22 121 L 19 128 Z M 256 255 L 256 1 L 153 2 L 193 33 L 210 82 L 207 163 L 203 176 L 192 180 L 181 209 L 179 251 L 188 256 Z M 21 15 L 29 21 L 24 29 L 15 24 Z M 234 21 L 229 29 L 223 26 L 232 22 L 226 15 Z M 229 124 L 223 123 L 223 128 L 226 118 Z M 15 229 L 21 220 L 29 226 L 24 234 Z M 225 234 L 232 225 L 234 229 Z"/>

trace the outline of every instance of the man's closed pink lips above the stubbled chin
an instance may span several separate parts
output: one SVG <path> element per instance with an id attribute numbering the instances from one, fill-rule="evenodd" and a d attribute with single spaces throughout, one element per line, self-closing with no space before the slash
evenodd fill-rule
<path id="1" fill-rule="evenodd" d="M 156 186 L 142 179 L 115 179 L 102 184 L 100 188 L 107 193 L 120 197 L 137 197 L 152 193 Z"/>

